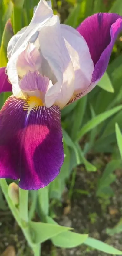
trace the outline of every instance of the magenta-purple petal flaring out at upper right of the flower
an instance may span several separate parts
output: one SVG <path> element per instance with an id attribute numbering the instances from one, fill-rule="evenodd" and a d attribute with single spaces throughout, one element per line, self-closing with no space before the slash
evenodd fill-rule
<path id="1" fill-rule="evenodd" d="M 84 37 L 94 62 L 92 83 L 107 69 L 115 40 L 122 30 L 122 17 L 115 13 L 97 13 L 85 19 L 77 28 Z"/>

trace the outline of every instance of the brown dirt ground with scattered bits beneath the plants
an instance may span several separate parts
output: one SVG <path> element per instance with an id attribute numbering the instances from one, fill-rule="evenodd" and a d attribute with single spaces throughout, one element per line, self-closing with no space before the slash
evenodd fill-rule
<path id="1" fill-rule="evenodd" d="M 112 237 L 106 233 L 106 229 L 114 227 L 122 215 L 122 170 L 117 170 L 116 175 L 117 179 L 112 184 L 114 197 L 106 200 L 100 199 L 96 197 L 96 188 L 98 179 L 101 177 L 101 171 L 88 173 L 83 167 L 78 167 L 71 201 L 67 200 L 69 182 L 62 207 L 55 207 L 54 211 L 57 215 L 56 221 L 60 225 L 71 226 L 78 233 L 89 233 L 89 236 L 113 245 L 122 251 L 122 233 Z M 82 194 L 79 193 L 79 190 L 86 192 L 82 192 Z M 8 209 L 7 211 L 0 211 L 0 255 L 9 245 L 14 246 L 16 256 L 33 255 Z M 84 245 L 72 249 L 54 248 L 51 242 L 47 241 L 42 245 L 41 255 L 106 256 L 108 254 L 92 250 Z"/>

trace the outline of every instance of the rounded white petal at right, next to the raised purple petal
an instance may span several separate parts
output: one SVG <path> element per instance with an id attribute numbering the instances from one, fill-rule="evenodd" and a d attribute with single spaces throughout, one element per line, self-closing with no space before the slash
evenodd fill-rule
<path id="1" fill-rule="evenodd" d="M 82 92 L 90 85 L 94 70 L 88 45 L 74 28 L 61 25 L 61 31 L 75 70 L 75 91 Z"/>

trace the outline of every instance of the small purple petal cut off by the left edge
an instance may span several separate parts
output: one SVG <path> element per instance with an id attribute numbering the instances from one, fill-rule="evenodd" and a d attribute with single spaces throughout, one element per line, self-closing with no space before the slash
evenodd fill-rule
<path id="1" fill-rule="evenodd" d="M 8 82 L 8 76 L 5 74 L 5 69 L 5 67 L 0 68 L 0 93 L 12 91 L 12 85 Z"/>

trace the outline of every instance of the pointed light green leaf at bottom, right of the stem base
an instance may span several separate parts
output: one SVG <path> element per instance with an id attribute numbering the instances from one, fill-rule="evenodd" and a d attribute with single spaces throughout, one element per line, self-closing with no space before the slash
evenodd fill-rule
<path id="1" fill-rule="evenodd" d="M 71 228 L 43 222 L 28 222 L 35 243 L 42 243 Z"/>

